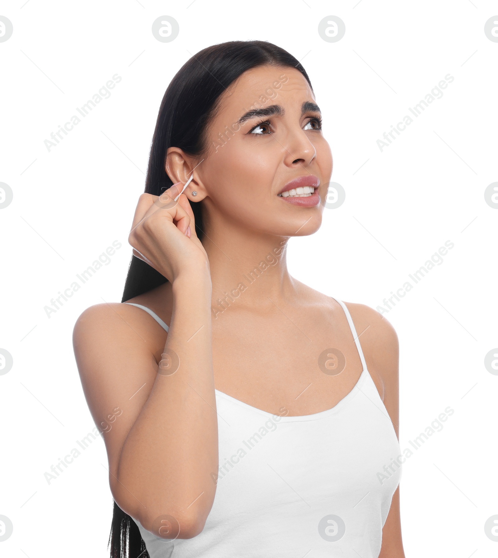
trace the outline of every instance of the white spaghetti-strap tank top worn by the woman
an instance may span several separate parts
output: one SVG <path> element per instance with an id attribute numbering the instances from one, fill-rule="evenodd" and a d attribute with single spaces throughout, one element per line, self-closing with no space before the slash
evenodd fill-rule
<path id="1" fill-rule="evenodd" d="M 220 469 L 205 527 L 166 540 L 136 522 L 151 558 L 378 558 L 401 451 L 337 302 L 363 367 L 355 387 L 304 416 L 272 415 L 216 389 Z"/>

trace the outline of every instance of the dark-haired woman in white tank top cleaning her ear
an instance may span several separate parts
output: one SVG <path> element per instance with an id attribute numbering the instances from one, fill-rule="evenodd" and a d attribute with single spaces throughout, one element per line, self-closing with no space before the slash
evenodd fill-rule
<path id="1" fill-rule="evenodd" d="M 113 558 L 404 558 L 397 336 L 286 266 L 331 172 L 283 49 L 212 46 L 168 86 L 123 302 L 74 330 Z"/>

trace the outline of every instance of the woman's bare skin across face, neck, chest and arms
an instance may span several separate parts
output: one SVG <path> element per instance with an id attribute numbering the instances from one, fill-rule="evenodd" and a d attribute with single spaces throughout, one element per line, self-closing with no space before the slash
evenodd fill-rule
<path id="1" fill-rule="evenodd" d="M 264 118 L 249 118 L 216 150 L 219 132 L 278 82 L 284 83 L 264 106 L 278 104 L 283 113 L 259 126 Z M 201 164 L 196 167 L 199 159 L 170 148 L 166 170 L 180 184 L 168 198 L 141 196 L 129 241 L 134 254 L 168 282 L 129 302 L 156 312 L 170 326 L 168 334 L 146 312 L 125 304 L 93 306 L 76 323 L 76 360 L 96 424 L 113 408 L 123 410 L 104 434 L 113 497 L 148 530 L 163 514 L 176 518 L 179 538 L 204 528 L 216 489 L 210 475 L 218 468 L 215 388 L 270 413 L 284 407 L 287 415 L 310 415 L 335 406 L 362 372 L 342 307 L 287 271 L 287 240 L 315 232 L 323 204 L 300 207 L 277 194 L 296 177 L 315 175 L 323 200 L 332 172 L 317 113 L 302 113 L 304 102 L 316 101 L 297 70 L 247 71 L 222 96 Z M 178 203 L 165 205 L 194 167 L 194 179 Z M 204 204 L 202 243 L 188 199 Z M 274 249 L 281 249 L 273 252 L 277 261 L 239 296 L 227 299 L 226 293 Z M 368 306 L 347 307 L 398 435 L 397 335 Z M 330 347 L 346 357 L 337 376 L 317 366 L 318 355 Z M 168 350 L 179 355 L 181 365 L 164 375 L 158 373 L 159 362 Z M 399 488 L 379 556 L 404 558 Z"/>

